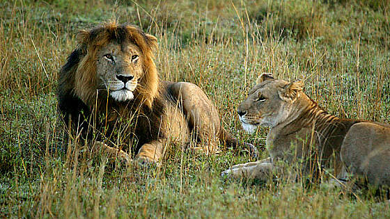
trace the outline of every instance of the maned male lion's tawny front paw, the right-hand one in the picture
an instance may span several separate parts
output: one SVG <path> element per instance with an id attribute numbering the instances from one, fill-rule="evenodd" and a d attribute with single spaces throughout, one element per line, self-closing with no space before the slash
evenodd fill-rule
<path id="1" fill-rule="evenodd" d="M 157 163 L 162 157 L 162 141 L 153 140 L 143 144 L 134 160 L 138 163 Z"/>

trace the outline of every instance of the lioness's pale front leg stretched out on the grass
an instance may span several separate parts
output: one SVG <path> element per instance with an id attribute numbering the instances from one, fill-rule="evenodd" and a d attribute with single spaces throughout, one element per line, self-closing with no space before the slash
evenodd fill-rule
<path id="1" fill-rule="evenodd" d="M 272 170 L 274 170 L 274 165 L 271 163 L 271 159 L 267 158 L 261 161 L 233 165 L 233 167 L 222 172 L 221 175 L 267 180 Z"/>

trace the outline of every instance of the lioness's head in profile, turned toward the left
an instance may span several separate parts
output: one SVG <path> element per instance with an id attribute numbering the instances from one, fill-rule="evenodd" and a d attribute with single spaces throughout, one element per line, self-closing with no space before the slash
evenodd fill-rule
<path id="1" fill-rule="evenodd" d="M 242 127 L 249 133 L 258 126 L 275 127 L 286 120 L 302 90 L 299 82 L 275 80 L 270 74 L 259 76 L 257 83 L 238 106 Z"/>

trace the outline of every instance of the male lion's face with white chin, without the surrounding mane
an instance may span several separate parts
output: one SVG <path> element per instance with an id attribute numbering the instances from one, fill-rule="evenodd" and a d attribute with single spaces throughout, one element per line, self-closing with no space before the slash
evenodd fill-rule
<path id="1" fill-rule="evenodd" d="M 118 102 L 134 98 L 142 74 L 141 49 L 136 44 L 109 42 L 96 57 L 98 88 Z"/>

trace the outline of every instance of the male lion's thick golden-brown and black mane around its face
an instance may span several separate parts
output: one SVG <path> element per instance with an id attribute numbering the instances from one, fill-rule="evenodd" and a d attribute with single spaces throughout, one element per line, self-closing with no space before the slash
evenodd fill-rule
<path id="1" fill-rule="evenodd" d="M 160 130 L 164 102 L 159 94 L 159 79 L 153 61 L 155 37 L 143 33 L 137 26 L 109 22 L 91 30 L 79 32 L 77 48 L 68 56 L 59 73 L 58 110 L 65 125 L 71 124 L 72 134 L 81 131 L 81 138 L 118 142 L 117 130 L 131 132 L 137 145 L 162 138 Z M 95 55 L 109 42 L 137 44 L 143 56 L 143 76 L 134 90 L 134 99 L 116 102 L 104 90 L 96 92 Z M 128 117 L 131 116 L 131 117 Z M 131 121 L 122 120 L 132 118 Z M 130 124 L 131 123 L 131 124 Z"/>

